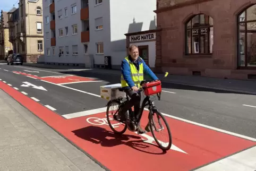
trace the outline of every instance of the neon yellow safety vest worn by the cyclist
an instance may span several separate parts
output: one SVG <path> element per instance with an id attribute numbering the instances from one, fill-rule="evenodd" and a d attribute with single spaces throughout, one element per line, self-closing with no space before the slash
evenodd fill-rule
<path id="1" fill-rule="evenodd" d="M 140 88 L 141 86 L 140 86 L 140 82 L 141 81 L 143 81 L 143 63 L 141 63 L 140 65 L 139 65 L 139 71 L 136 69 L 136 66 L 132 63 L 132 62 L 130 62 L 129 61 L 129 58 L 128 58 L 128 56 L 126 56 L 125 58 L 124 58 L 128 63 L 129 63 L 129 65 L 130 65 L 130 69 L 131 69 L 131 77 L 132 77 L 132 80 L 133 80 L 133 82 L 135 83 L 135 85 L 138 87 L 138 88 Z M 121 85 L 122 85 L 122 87 L 127 87 L 127 86 L 129 86 L 128 84 L 127 84 L 127 82 L 124 80 L 124 77 L 123 77 L 123 74 L 121 75 Z"/>

